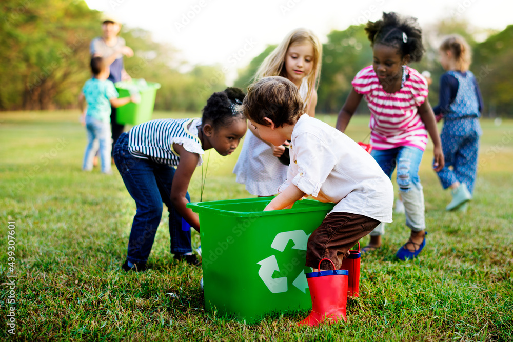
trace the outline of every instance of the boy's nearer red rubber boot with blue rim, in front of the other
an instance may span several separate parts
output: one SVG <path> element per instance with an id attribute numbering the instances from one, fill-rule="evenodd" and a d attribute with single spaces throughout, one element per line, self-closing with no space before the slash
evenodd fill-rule
<path id="1" fill-rule="evenodd" d="M 322 259 L 319 261 L 321 267 Z M 312 312 L 298 322 L 298 327 L 309 325 L 317 327 L 323 321 L 327 323 L 337 323 L 340 319 L 346 318 L 347 304 L 347 270 L 309 272 L 306 273 L 310 296 L 312 298 Z"/>

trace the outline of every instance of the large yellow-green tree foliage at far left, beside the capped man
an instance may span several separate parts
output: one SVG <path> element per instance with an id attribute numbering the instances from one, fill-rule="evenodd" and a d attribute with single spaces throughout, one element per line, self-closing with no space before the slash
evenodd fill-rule
<path id="1" fill-rule="evenodd" d="M 6 0 L 2 12 L 0 108 L 74 104 L 77 82 L 89 74 L 84 68 L 89 36 L 100 13 L 69 0 Z"/>

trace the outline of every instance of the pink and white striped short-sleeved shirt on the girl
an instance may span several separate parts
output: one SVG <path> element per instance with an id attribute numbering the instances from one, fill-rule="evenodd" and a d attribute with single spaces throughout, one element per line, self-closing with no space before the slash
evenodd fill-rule
<path id="1" fill-rule="evenodd" d="M 408 77 L 395 93 L 383 90 L 372 66 L 360 70 L 351 82 L 354 91 L 364 95 L 370 110 L 370 143 L 376 150 L 400 146 L 425 150 L 427 131 L 418 107 L 427 98 L 427 83 L 421 74 L 406 67 Z"/>

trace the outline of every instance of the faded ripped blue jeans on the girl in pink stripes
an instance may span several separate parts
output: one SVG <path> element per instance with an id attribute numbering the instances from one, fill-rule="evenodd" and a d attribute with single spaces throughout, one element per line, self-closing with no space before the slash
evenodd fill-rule
<path id="1" fill-rule="evenodd" d="M 419 178 L 419 165 L 424 151 L 417 147 L 401 146 L 388 150 L 372 150 L 370 154 L 390 178 L 397 166 L 397 185 L 403 198 L 406 226 L 413 232 L 424 230 L 424 193 Z M 384 231 L 385 224 L 381 223 L 370 235 L 383 235 Z"/>

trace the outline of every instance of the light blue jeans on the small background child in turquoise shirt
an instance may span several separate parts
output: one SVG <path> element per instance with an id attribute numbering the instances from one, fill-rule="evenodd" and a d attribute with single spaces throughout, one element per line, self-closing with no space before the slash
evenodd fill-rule
<path id="1" fill-rule="evenodd" d="M 93 158 L 96 151 L 94 151 L 94 140 L 100 142 L 100 159 L 102 162 L 102 172 L 109 173 L 110 166 L 110 124 L 106 121 L 95 119 L 90 115 L 86 115 L 86 129 L 87 129 L 87 146 L 84 153 L 84 163 L 82 170 L 91 171 L 93 168 Z"/>

